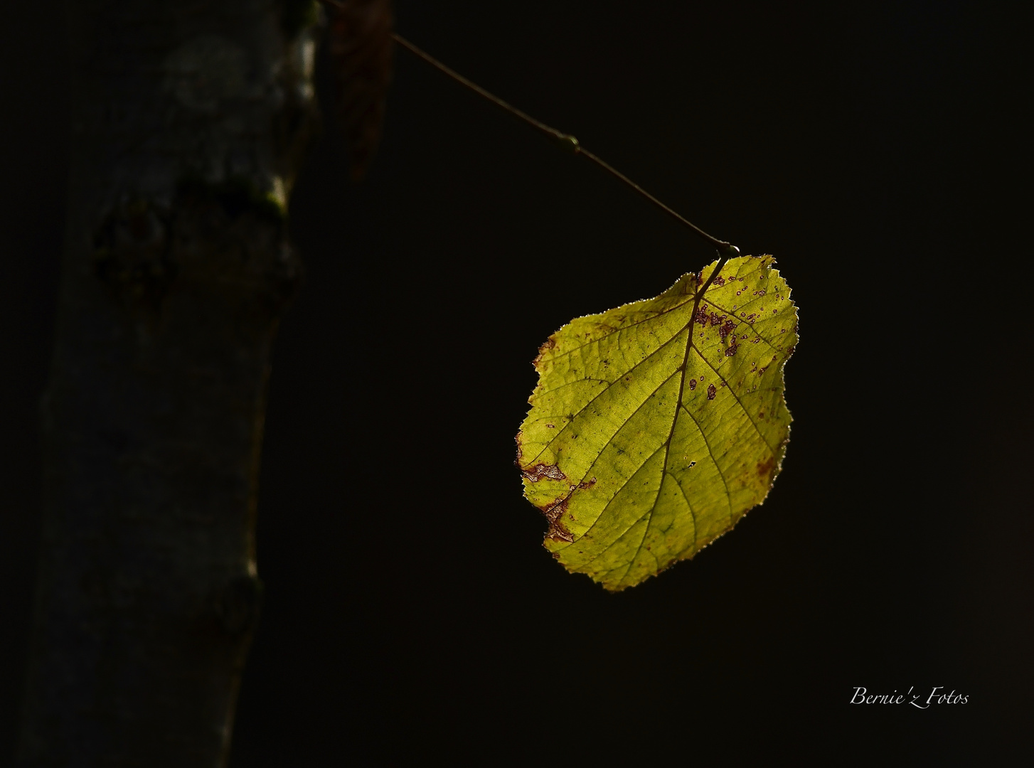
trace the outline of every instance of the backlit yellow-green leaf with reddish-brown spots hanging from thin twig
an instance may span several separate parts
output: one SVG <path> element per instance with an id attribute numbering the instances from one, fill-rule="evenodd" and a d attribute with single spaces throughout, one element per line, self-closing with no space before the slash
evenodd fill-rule
<path id="1" fill-rule="evenodd" d="M 765 499 L 789 439 L 783 366 L 797 343 L 773 262 L 731 258 L 708 285 L 716 262 L 542 345 L 517 464 L 569 571 L 611 590 L 638 584 Z"/>

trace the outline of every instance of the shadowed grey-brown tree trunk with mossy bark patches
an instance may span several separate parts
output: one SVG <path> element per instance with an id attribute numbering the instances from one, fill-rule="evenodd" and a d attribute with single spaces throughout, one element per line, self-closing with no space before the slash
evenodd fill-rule
<path id="1" fill-rule="evenodd" d="M 221 766 L 312 3 L 70 3 L 72 155 L 19 766 Z M 306 13 L 310 16 L 307 18 Z"/>

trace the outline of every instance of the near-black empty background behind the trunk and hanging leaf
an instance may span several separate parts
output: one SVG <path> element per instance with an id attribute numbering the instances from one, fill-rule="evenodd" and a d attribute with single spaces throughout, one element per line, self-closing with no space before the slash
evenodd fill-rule
<path id="1" fill-rule="evenodd" d="M 292 203 L 308 277 L 275 358 L 267 601 L 233 765 L 1029 764 L 1020 25 L 952 2 L 396 8 L 417 44 L 777 256 L 801 317 L 792 439 L 765 504 L 693 562 L 612 595 L 550 559 L 512 464 L 530 359 L 712 253 L 398 51 L 368 180 L 347 181 L 328 130 Z M 62 238 L 63 24 L 16 5 L 0 47 L 5 754 Z M 969 703 L 852 706 L 858 685 Z"/>

